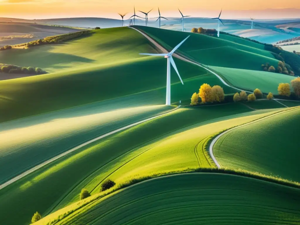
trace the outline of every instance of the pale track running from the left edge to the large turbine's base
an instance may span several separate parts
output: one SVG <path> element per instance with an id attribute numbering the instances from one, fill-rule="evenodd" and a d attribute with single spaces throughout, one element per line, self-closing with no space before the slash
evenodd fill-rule
<path id="1" fill-rule="evenodd" d="M 40 169 L 40 168 L 46 166 L 47 164 L 52 163 L 53 161 L 55 161 L 55 160 L 57 160 L 57 159 L 59 159 L 59 158 L 61 158 L 61 157 L 64 157 L 65 155 L 68 155 L 69 153 L 74 152 L 74 151 L 76 151 L 76 150 L 78 150 L 78 149 L 80 149 L 80 148 L 82 148 L 82 147 L 84 147 L 84 146 L 87 146 L 88 144 L 91 144 L 91 143 L 93 143 L 93 142 L 95 142 L 95 141 L 98 141 L 98 140 L 104 138 L 104 137 L 107 137 L 107 136 L 110 136 L 110 135 L 112 135 L 112 134 L 115 134 L 115 133 L 117 133 L 117 132 L 119 132 L 119 131 L 123 131 L 123 130 L 126 130 L 126 129 L 128 129 L 128 128 L 134 127 L 134 126 L 136 126 L 136 125 L 142 124 L 142 123 L 144 123 L 144 122 L 150 121 L 150 120 L 152 120 L 152 119 L 156 119 L 156 118 L 158 118 L 158 117 L 164 116 L 164 115 L 166 115 L 166 114 L 168 114 L 168 113 L 170 113 L 170 112 L 173 112 L 173 111 L 179 109 L 179 107 L 180 107 L 180 106 L 178 106 L 178 107 L 176 107 L 176 108 L 174 108 L 174 109 L 172 109 L 172 110 L 169 110 L 169 111 L 166 112 L 166 113 L 162 113 L 162 114 L 160 114 L 160 115 L 158 115 L 158 116 L 153 116 L 153 117 L 151 117 L 151 118 L 144 119 L 144 120 L 139 121 L 139 122 L 135 122 L 135 123 L 133 123 L 133 124 L 127 125 L 127 126 L 125 126 L 125 127 L 119 128 L 119 129 L 116 129 L 116 130 L 111 131 L 111 132 L 109 132 L 109 133 L 103 134 L 103 135 L 101 135 L 101 136 L 99 136 L 99 137 L 96 137 L 96 138 L 94 138 L 94 139 L 92 139 L 92 140 L 90 140 L 90 141 L 87 141 L 87 142 L 85 142 L 85 143 L 82 143 L 81 145 L 76 146 L 76 147 L 74 147 L 74 148 L 68 150 L 67 152 L 63 152 L 63 153 L 61 153 L 60 155 L 57 155 L 57 156 L 55 156 L 55 157 L 53 157 L 53 158 L 51 158 L 51 159 L 49 159 L 49 160 L 47 160 L 47 161 L 45 161 L 45 162 L 43 162 L 43 163 L 41 163 L 41 164 L 35 166 L 35 167 L 33 167 L 33 168 L 31 168 L 31 169 L 25 171 L 24 173 L 22 173 L 22 174 L 20 174 L 20 175 L 18 175 L 18 176 L 16 176 L 16 177 L 10 179 L 9 181 L 7 181 L 7 182 L 1 184 L 1 185 L 0 185 L 0 190 L 3 189 L 4 187 L 7 187 L 7 186 L 10 185 L 10 184 L 12 184 L 13 182 L 16 182 L 16 181 L 18 181 L 19 179 L 25 177 L 26 175 L 28 175 L 28 174 L 30 174 L 30 173 L 33 173 L 34 171 L 36 171 L 36 170 L 38 170 L 38 169 Z"/>

